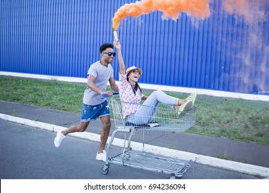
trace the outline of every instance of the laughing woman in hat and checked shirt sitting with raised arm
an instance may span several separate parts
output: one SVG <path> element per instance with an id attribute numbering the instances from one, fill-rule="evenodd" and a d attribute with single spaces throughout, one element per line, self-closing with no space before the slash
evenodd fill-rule
<path id="1" fill-rule="evenodd" d="M 173 96 L 168 96 L 161 90 L 152 92 L 150 96 L 142 94 L 141 88 L 137 83 L 142 75 L 141 68 L 132 66 L 126 70 L 119 41 L 114 41 L 114 48 L 117 49 L 119 56 L 119 96 L 121 102 L 123 102 L 123 119 L 127 119 L 128 122 L 134 125 L 150 123 L 156 113 L 159 102 L 170 106 L 179 114 L 192 108 L 196 99 L 195 93 L 190 94 L 187 99 L 177 99 Z M 142 99 L 146 101 L 144 101 L 143 105 L 139 105 Z"/>

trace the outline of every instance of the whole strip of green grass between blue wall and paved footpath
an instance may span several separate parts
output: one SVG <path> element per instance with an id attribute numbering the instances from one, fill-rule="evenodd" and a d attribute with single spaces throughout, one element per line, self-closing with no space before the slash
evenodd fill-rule
<path id="1" fill-rule="evenodd" d="M 0 77 L 0 88 L 3 101 L 80 113 L 86 84 Z M 187 132 L 269 145 L 269 102 L 198 95 L 195 105 L 197 123 Z"/>

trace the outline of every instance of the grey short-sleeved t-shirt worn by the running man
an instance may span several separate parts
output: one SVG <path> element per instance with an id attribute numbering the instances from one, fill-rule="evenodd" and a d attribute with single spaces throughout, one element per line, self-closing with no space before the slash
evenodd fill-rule
<path id="1" fill-rule="evenodd" d="M 90 68 L 88 70 L 88 76 L 89 75 L 95 77 L 95 84 L 99 89 L 103 90 L 104 92 L 106 91 L 106 86 L 109 79 L 114 77 L 113 68 L 110 63 L 108 64 L 108 67 L 106 67 L 102 65 L 100 61 L 97 61 L 96 63 L 92 63 L 92 65 L 90 65 Z M 103 101 L 106 101 L 106 98 L 104 98 L 101 94 L 94 92 L 90 88 L 87 87 L 84 91 L 84 104 L 99 105 L 103 103 Z"/>

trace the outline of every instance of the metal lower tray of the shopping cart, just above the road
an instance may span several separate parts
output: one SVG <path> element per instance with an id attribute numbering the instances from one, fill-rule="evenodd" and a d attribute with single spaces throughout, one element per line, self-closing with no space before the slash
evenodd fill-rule
<path id="1" fill-rule="evenodd" d="M 183 174 L 190 169 L 190 161 L 183 161 L 168 156 L 151 154 L 148 152 L 139 152 L 128 150 L 123 154 L 110 157 L 110 163 L 117 163 L 124 166 L 130 166 L 148 170 L 152 172 L 163 172 L 164 174 L 172 174 L 177 178 L 181 178 Z"/>

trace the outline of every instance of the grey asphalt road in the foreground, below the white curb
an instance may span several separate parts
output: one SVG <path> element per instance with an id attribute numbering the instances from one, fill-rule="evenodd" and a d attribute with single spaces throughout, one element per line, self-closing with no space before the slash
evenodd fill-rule
<path id="1" fill-rule="evenodd" d="M 166 179 L 167 174 L 111 164 L 101 174 L 102 161 L 95 159 L 99 143 L 67 136 L 54 147 L 56 133 L 0 119 L 1 179 Z M 118 147 L 112 153 L 121 152 Z M 231 170 L 190 164 L 181 179 L 259 179 Z"/>

